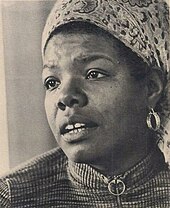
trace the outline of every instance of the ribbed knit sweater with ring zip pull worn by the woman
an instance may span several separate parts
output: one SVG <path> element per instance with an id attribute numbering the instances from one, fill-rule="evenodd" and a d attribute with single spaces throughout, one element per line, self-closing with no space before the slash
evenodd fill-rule
<path id="1" fill-rule="evenodd" d="M 110 178 L 56 148 L 0 180 L 0 207 L 169 208 L 170 172 L 158 148 Z"/>

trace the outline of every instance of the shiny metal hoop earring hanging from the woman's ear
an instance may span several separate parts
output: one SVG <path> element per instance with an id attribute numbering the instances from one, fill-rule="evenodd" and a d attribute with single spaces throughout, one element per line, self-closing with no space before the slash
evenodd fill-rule
<path id="1" fill-rule="evenodd" d="M 157 131 L 160 129 L 161 121 L 159 115 L 151 108 L 147 118 L 146 123 L 149 129 L 152 129 L 153 131 Z"/>

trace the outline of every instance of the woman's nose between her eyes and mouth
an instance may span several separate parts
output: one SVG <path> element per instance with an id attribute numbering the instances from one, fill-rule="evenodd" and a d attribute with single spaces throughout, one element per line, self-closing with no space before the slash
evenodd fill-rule
<path id="1" fill-rule="evenodd" d="M 80 86 L 76 85 L 76 82 L 66 83 L 62 89 L 60 89 L 60 95 L 58 99 L 58 108 L 64 111 L 66 107 L 84 107 L 88 103 L 88 98 L 85 92 Z"/>

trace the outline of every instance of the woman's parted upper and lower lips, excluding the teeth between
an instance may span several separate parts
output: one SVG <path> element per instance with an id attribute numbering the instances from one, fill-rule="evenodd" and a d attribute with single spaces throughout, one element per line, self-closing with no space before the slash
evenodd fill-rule
<path id="1" fill-rule="evenodd" d="M 85 124 L 84 127 L 79 128 L 80 131 L 72 131 L 72 132 L 67 132 L 65 130 L 67 125 L 74 125 L 76 123 L 80 124 Z M 65 118 L 61 123 L 60 123 L 60 135 L 62 139 L 66 142 L 73 143 L 73 142 L 78 142 L 78 141 L 83 141 L 87 138 L 89 134 L 91 134 L 93 131 L 95 131 L 98 128 L 98 124 L 86 117 L 83 116 L 71 116 Z"/>

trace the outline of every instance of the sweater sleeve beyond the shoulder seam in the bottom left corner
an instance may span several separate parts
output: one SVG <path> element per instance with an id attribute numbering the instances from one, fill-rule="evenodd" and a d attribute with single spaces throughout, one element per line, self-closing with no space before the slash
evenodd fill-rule
<path id="1" fill-rule="evenodd" d="M 0 180 L 0 208 L 10 207 L 10 187 L 8 179 Z"/>

